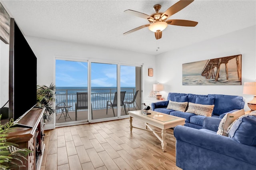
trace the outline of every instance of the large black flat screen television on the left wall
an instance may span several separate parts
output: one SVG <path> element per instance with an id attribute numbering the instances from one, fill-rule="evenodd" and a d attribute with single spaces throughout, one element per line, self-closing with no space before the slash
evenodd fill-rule
<path id="1" fill-rule="evenodd" d="M 36 105 L 37 58 L 11 18 L 9 51 L 9 119 L 23 117 Z"/>

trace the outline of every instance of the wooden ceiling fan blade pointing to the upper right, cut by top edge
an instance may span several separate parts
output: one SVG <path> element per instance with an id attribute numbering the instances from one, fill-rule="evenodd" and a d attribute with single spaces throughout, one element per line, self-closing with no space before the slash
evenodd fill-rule
<path id="1" fill-rule="evenodd" d="M 168 18 L 170 16 L 172 16 L 173 14 L 175 14 L 176 12 L 179 12 L 180 10 L 182 10 L 183 8 L 185 8 L 186 6 L 188 6 L 189 4 L 191 4 L 194 0 L 180 0 L 179 2 L 177 2 L 176 4 L 172 5 L 170 8 L 168 8 L 162 15 L 161 18 L 163 16 L 165 16 L 164 18 Z"/>

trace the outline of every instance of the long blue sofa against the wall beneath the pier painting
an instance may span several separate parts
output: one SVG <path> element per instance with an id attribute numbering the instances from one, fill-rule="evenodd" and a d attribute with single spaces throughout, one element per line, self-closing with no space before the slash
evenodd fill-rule
<path id="1" fill-rule="evenodd" d="M 185 98 L 185 97 L 186 98 Z M 182 117 L 186 119 L 185 125 L 187 127 L 201 129 L 203 128 L 203 122 L 205 116 L 196 115 L 194 113 L 186 113 L 180 111 L 174 111 L 170 109 L 166 109 L 171 101 L 177 101 L 179 97 L 186 99 L 188 102 L 196 103 L 198 99 L 213 99 L 214 101 L 214 109 L 212 111 L 212 117 L 222 119 L 227 113 L 233 113 L 234 111 L 238 111 L 240 109 L 244 109 L 245 99 L 242 96 L 233 96 L 233 95 L 218 95 L 218 94 L 208 94 L 208 95 L 196 95 L 196 94 L 186 94 L 186 93 L 168 93 L 167 101 L 160 101 L 156 103 L 151 103 L 151 108 L 153 111 L 157 111 L 160 113 L 165 113 L 168 115 L 173 115 L 177 117 Z M 180 98 L 179 98 L 180 99 Z M 178 101 L 182 102 L 182 101 Z M 201 100 L 198 104 L 205 104 L 203 100 Z"/>

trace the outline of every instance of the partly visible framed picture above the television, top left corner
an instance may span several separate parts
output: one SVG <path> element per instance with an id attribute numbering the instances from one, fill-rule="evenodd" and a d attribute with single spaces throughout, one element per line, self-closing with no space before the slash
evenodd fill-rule
<path id="1" fill-rule="evenodd" d="M 11 18 L 4 9 L 4 6 L 0 4 L 0 14 L 1 14 L 1 23 L 0 23 L 0 39 L 6 43 L 9 44 L 9 39 L 10 39 L 10 21 Z"/>

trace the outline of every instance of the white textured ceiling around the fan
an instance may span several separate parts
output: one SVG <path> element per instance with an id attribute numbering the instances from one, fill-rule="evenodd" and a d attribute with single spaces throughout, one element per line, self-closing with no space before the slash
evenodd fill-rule
<path id="1" fill-rule="evenodd" d="M 156 55 L 256 24 L 255 0 L 195 0 L 168 19 L 197 21 L 196 27 L 168 27 L 162 38 L 143 28 L 148 20 L 124 13 L 135 10 L 151 15 L 155 4 L 164 12 L 178 0 L 2 0 L 22 32 L 68 42 L 99 45 Z M 157 47 L 160 47 L 156 51 Z"/>

